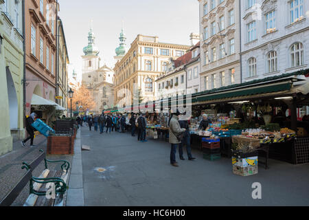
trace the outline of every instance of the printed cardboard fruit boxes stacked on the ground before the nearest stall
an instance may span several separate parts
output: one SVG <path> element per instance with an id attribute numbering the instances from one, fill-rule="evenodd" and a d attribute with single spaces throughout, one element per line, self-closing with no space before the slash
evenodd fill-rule
<path id="1" fill-rule="evenodd" d="M 258 173 L 258 152 L 233 153 L 233 173 L 241 176 L 255 175 Z"/>

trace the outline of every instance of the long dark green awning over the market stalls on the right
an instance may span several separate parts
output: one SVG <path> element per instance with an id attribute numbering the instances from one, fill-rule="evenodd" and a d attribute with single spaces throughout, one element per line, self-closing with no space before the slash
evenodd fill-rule
<path id="1" fill-rule="evenodd" d="M 257 94 L 267 94 L 277 91 L 286 91 L 290 90 L 292 83 L 284 83 L 278 85 L 268 85 L 264 87 L 255 87 L 255 88 L 247 88 L 247 89 L 239 89 L 238 91 L 225 92 L 220 94 L 209 94 L 202 97 L 197 97 L 193 102 L 203 102 L 208 100 L 216 100 L 222 98 L 233 98 L 238 96 L 253 96 Z"/>

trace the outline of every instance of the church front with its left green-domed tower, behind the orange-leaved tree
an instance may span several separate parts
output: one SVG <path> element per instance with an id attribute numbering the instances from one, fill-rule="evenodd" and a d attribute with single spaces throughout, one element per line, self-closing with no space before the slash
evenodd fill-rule
<path id="1" fill-rule="evenodd" d="M 84 47 L 82 56 L 82 85 L 91 91 L 95 101 L 95 109 L 89 109 L 96 114 L 113 107 L 114 72 L 105 64 L 100 67 L 101 58 L 98 47 L 95 46 L 95 34 L 92 27 L 88 33 L 88 45 Z M 80 103 L 82 105 L 82 103 Z"/>

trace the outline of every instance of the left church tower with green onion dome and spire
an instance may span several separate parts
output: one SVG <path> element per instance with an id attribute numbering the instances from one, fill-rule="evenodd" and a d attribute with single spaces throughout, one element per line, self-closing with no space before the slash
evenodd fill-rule
<path id="1" fill-rule="evenodd" d="M 95 34 L 91 28 L 88 33 L 88 45 L 84 47 L 84 55 L 82 56 L 82 74 L 93 72 L 100 68 L 101 58 L 98 56 L 100 53 L 98 47 L 95 46 Z"/>

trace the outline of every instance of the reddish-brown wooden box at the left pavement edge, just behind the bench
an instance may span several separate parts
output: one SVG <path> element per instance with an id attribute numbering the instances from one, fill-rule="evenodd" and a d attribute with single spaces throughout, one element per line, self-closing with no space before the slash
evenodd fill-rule
<path id="1" fill-rule="evenodd" d="M 69 155 L 74 153 L 73 136 L 49 136 L 47 137 L 47 154 Z"/>

